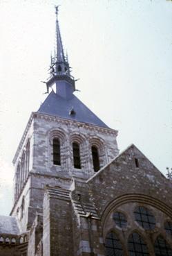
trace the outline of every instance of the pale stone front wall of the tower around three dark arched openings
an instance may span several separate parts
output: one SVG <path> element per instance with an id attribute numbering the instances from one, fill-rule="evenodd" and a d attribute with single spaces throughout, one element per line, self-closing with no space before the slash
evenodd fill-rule
<path id="1" fill-rule="evenodd" d="M 88 178 L 94 173 L 91 146 L 95 145 L 99 150 L 101 167 L 118 154 L 115 130 L 37 113 L 34 114 L 34 119 L 33 171 L 67 171 L 70 176 Z M 54 166 L 52 162 L 53 137 L 58 137 L 61 143 L 60 167 Z M 73 142 L 80 145 L 81 170 L 73 168 Z"/>

